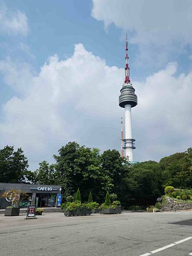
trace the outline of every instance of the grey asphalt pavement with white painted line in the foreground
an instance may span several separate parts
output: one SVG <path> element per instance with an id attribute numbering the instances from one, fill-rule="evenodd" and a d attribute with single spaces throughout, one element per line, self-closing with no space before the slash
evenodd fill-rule
<path id="1" fill-rule="evenodd" d="M 0 256 L 188 256 L 192 212 L 0 215 Z M 191 254 L 192 255 L 192 254 Z"/>

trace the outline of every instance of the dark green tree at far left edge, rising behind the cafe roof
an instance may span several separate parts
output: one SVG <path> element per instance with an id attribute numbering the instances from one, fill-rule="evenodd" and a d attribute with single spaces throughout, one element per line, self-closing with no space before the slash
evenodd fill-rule
<path id="1" fill-rule="evenodd" d="M 0 182 L 26 182 L 26 175 L 29 175 L 28 167 L 28 160 L 21 148 L 14 151 L 13 146 L 7 145 L 0 149 Z"/>

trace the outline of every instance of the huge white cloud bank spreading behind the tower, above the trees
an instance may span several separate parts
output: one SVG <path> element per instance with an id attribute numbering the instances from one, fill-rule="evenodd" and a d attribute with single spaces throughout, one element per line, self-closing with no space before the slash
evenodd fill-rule
<path id="1" fill-rule="evenodd" d="M 50 57 L 37 76 L 27 64 L 10 59 L 1 61 L 0 70 L 20 93 L 3 106 L 0 146 L 22 146 L 32 169 L 42 160 L 51 161 L 68 141 L 119 150 L 123 69 L 108 67 L 77 44 L 71 58 Z M 190 146 L 191 84 L 192 72 L 178 74 L 176 63 L 143 83 L 134 81 L 139 100 L 132 115 L 135 160 L 158 160 Z"/>

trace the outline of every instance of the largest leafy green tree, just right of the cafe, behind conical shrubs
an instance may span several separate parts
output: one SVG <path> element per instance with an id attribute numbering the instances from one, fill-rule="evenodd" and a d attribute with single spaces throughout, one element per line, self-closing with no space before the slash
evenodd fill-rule
<path id="1" fill-rule="evenodd" d="M 102 169 L 99 149 L 85 148 L 76 142 L 69 142 L 54 155 L 56 169 L 64 192 L 64 197 L 81 190 L 81 200 L 85 201 L 90 190 L 94 198 L 101 202 L 107 190 L 113 187 L 108 171 Z"/>

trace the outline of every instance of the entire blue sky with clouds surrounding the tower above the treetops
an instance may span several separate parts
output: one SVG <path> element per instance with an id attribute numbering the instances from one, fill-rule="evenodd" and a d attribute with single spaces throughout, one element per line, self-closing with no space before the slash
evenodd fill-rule
<path id="1" fill-rule="evenodd" d="M 68 141 L 120 150 L 128 33 L 134 160 L 186 150 L 191 22 L 190 1 L 0 1 L 0 146 L 22 147 L 32 170 Z"/>

